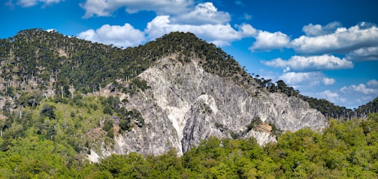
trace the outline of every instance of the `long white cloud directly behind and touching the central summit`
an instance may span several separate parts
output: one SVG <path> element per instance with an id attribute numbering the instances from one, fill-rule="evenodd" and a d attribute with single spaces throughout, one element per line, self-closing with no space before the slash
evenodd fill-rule
<path id="1" fill-rule="evenodd" d="M 158 38 L 171 31 L 190 31 L 210 43 L 223 46 L 241 38 L 252 36 L 255 29 L 250 24 L 241 24 L 234 29 L 230 24 L 175 24 L 171 23 L 168 15 L 159 15 L 151 22 L 148 22 L 145 33 L 151 40 Z"/>

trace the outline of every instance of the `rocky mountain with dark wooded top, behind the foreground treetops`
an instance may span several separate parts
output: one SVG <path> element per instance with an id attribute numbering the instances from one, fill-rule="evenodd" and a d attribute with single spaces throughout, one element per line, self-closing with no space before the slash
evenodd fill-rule
<path id="1" fill-rule="evenodd" d="M 113 153 L 182 155 L 210 136 L 265 145 L 328 121 L 283 82 L 249 76 L 191 33 L 121 49 L 29 29 L 0 41 L 0 61 L 3 151 L 34 136 L 66 141 L 92 162 Z"/>

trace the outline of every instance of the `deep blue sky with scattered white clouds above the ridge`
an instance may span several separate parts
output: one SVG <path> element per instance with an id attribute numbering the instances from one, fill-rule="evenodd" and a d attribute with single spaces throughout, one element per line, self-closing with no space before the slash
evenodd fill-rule
<path id="1" fill-rule="evenodd" d="M 5 0 L 0 38 L 31 28 L 120 48 L 171 31 L 214 43 L 251 75 L 357 108 L 378 96 L 376 0 Z"/>

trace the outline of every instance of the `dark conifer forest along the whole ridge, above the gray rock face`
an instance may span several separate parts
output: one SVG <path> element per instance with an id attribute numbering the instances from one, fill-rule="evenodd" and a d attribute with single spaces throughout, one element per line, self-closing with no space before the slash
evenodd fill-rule
<path id="1" fill-rule="evenodd" d="M 302 96 L 282 80 L 274 83 L 258 78 L 254 73 L 246 73 L 221 48 L 200 40 L 194 34 L 180 32 L 167 34 L 136 48 L 121 49 L 64 36 L 56 31 L 20 31 L 13 37 L 0 40 L 0 95 L 12 98 L 11 104 L 17 108 L 20 103 L 23 103 L 22 106 L 38 105 L 42 96 L 57 94 L 62 98 L 72 98 L 73 92 L 87 94 L 109 85 L 113 90 L 135 92 L 134 87 L 144 86 L 143 81 L 133 79 L 159 58 L 173 53 L 180 54 L 183 63 L 190 60 L 190 56 L 200 57 L 206 71 L 241 84 L 298 96 L 327 117 L 350 119 L 377 112 L 375 103 L 367 105 L 369 109 L 364 106 L 355 113 L 325 99 Z M 20 96 L 26 96 L 28 102 L 15 102 Z"/>

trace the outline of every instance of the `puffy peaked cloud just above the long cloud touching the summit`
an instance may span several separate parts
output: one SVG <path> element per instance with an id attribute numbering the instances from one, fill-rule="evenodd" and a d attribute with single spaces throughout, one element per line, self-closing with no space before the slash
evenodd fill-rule
<path id="1" fill-rule="evenodd" d="M 218 11 L 213 3 L 199 3 L 190 13 L 182 13 L 172 18 L 180 24 L 225 24 L 230 22 L 229 13 Z"/>

